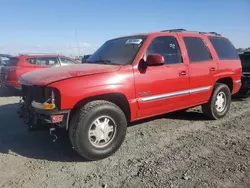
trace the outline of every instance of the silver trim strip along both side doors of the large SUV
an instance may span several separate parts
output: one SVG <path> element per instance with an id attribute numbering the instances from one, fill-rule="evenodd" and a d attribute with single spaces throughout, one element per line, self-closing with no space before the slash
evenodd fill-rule
<path id="1" fill-rule="evenodd" d="M 194 88 L 194 89 L 189 89 L 189 90 L 165 93 L 165 94 L 161 94 L 161 95 L 153 95 L 150 97 L 143 97 L 143 98 L 141 98 L 141 100 L 142 100 L 142 102 L 150 102 L 150 101 L 154 101 L 154 100 L 160 100 L 160 99 L 166 99 L 166 98 L 171 98 L 171 97 L 177 97 L 177 96 L 181 96 L 181 95 L 187 95 L 187 94 L 208 91 L 210 88 L 211 88 L 211 86 L 199 87 L 199 88 Z"/>

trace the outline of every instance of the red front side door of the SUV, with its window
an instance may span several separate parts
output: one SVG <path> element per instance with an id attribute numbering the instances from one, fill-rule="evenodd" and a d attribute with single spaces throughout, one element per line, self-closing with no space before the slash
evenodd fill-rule
<path id="1" fill-rule="evenodd" d="M 138 118 L 178 110 L 188 105 L 189 72 L 183 62 L 175 34 L 156 37 L 149 44 L 149 54 L 160 54 L 165 64 L 148 66 L 145 72 L 135 69 Z"/>

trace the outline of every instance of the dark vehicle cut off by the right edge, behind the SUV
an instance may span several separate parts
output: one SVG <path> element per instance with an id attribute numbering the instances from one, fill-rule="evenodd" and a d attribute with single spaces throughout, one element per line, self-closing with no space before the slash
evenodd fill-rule
<path id="1" fill-rule="evenodd" d="M 239 91 L 240 94 L 247 94 L 250 90 L 250 51 L 239 53 L 242 64 L 242 87 Z"/>

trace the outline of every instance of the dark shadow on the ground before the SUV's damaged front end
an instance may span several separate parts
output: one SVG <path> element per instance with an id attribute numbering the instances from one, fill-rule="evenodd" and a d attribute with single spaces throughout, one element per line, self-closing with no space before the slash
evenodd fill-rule
<path id="1" fill-rule="evenodd" d="M 18 104 L 0 106 L 0 153 L 49 161 L 85 161 L 72 149 L 66 132 L 56 142 L 48 131 L 29 132 L 17 110 Z"/>

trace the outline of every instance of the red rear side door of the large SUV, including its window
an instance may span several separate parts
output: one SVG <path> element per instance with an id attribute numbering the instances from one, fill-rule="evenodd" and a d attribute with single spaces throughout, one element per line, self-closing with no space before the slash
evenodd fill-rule
<path id="1" fill-rule="evenodd" d="M 190 33 L 179 34 L 186 46 L 189 61 L 190 102 L 194 105 L 209 100 L 218 78 L 218 62 L 209 50 L 206 36 Z"/>

